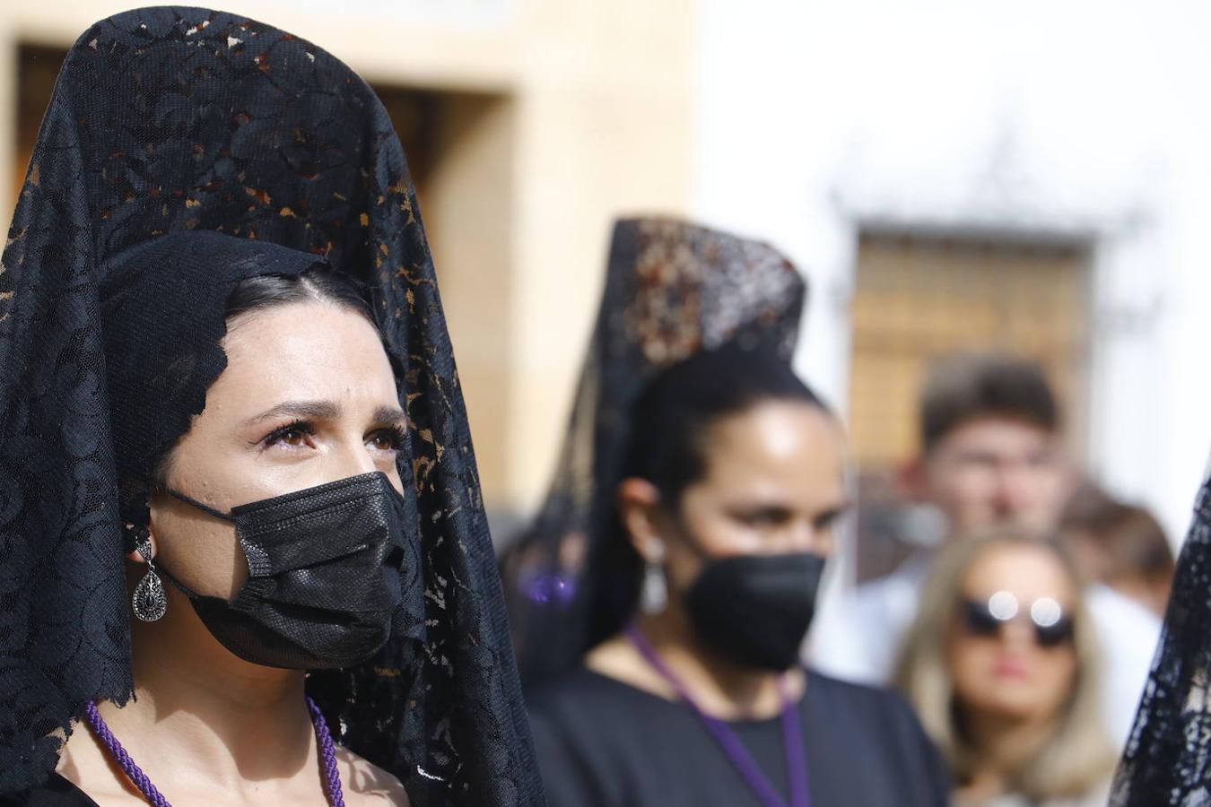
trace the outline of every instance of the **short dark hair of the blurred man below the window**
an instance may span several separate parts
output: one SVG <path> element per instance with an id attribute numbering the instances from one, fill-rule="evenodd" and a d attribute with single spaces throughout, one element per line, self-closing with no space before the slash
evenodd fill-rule
<path id="1" fill-rule="evenodd" d="M 1046 376 L 1034 362 L 1010 356 L 954 356 L 935 365 L 920 400 L 920 443 L 930 451 L 977 417 L 1010 417 L 1045 432 L 1060 428 Z"/>

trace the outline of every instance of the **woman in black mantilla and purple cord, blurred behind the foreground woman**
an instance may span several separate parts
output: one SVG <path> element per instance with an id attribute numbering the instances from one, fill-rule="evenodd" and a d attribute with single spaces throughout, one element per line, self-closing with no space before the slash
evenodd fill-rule
<path id="1" fill-rule="evenodd" d="M 947 801 L 900 698 L 798 663 L 846 508 L 842 431 L 788 362 L 804 292 L 764 244 L 615 229 L 556 483 L 506 561 L 552 805 Z"/>

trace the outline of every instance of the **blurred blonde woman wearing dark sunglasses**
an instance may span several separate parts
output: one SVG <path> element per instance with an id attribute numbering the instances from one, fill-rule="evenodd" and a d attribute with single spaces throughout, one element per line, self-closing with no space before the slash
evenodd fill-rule
<path id="1" fill-rule="evenodd" d="M 1071 560 L 1020 534 L 974 537 L 924 592 L 896 681 L 951 765 L 954 803 L 1104 805 L 1100 652 Z"/>

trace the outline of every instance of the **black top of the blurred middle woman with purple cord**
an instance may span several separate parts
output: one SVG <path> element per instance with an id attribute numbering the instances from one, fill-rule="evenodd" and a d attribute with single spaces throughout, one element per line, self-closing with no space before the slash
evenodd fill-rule
<path id="1" fill-rule="evenodd" d="M 551 807 L 759 806 L 693 711 L 587 669 L 530 693 Z M 799 702 L 811 807 L 945 807 L 949 782 L 916 715 L 885 690 L 808 671 Z M 729 724 L 787 796 L 777 717 Z"/>

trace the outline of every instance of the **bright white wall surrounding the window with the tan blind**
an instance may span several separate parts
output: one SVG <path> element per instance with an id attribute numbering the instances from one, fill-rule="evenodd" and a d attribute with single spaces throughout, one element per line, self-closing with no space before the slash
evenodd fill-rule
<path id="1" fill-rule="evenodd" d="M 844 410 L 863 219 L 1089 236 L 1089 456 L 1181 537 L 1211 450 L 1211 6 L 701 0 L 694 211 L 813 283 Z"/>

